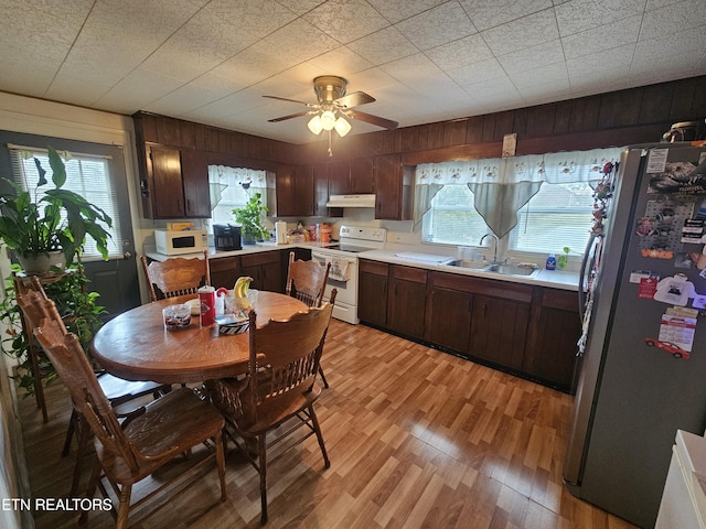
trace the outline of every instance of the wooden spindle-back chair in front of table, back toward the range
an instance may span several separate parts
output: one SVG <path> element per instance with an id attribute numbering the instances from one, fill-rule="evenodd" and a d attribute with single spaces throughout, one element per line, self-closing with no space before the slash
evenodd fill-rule
<path id="1" fill-rule="evenodd" d="M 335 298 L 335 293 L 332 295 Z M 321 395 L 317 374 L 333 305 L 324 303 L 299 312 L 286 321 L 270 320 L 257 328 L 256 313 L 249 314 L 248 374 L 244 379 L 211 380 L 212 400 L 233 430 L 245 441 L 228 435 L 260 476 L 260 523 L 267 522 L 267 466 L 299 443 L 317 435 L 327 468 L 331 466 L 314 411 Z M 292 422 L 290 427 L 289 421 Z M 287 423 L 282 429 L 280 425 Z M 304 428 L 289 443 L 285 439 Z M 226 429 L 228 434 L 228 430 Z M 268 434 L 271 439 L 267 440 Z M 279 444 L 281 443 L 281 444 Z M 248 450 L 257 445 L 257 457 Z M 270 457 L 268 450 L 280 446 Z"/>

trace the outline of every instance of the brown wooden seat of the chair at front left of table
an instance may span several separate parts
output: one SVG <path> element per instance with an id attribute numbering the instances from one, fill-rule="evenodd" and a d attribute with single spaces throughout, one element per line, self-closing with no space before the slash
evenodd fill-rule
<path id="1" fill-rule="evenodd" d="M 184 418 L 189 417 L 189 421 Z M 125 434 L 143 460 L 131 472 L 127 462 L 106 451 L 96 440 L 96 453 L 104 468 L 117 483 L 135 483 L 154 472 L 164 460 L 172 458 L 194 446 L 211 431 L 215 436 L 225 427 L 225 420 L 208 402 L 201 400 L 193 390 L 180 388 L 146 406 L 141 415 L 128 422 Z"/>

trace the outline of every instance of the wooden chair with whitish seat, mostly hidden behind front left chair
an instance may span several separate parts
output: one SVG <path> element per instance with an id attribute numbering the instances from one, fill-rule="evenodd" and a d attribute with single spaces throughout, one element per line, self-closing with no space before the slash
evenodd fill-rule
<path id="1" fill-rule="evenodd" d="M 24 285 L 22 293 L 18 295 L 17 300 L 18 305 L 22 310 L 24 325 L 29 333 L 29 339 L 33 339 L 33 330 L 39 327 L 44 319 L 56 322 L 63 334 L 68 333 L 62 316 L 56 310 L 56 305 L 47 298 L 46 292 L 44 292 L 42 283 L 36 276 L 31 278 L 31 282 L 29 284 Z M 85 356 L 83 348 L 81 354 Z M 169 385 L 152 381 L 124 380 L 103 370 L 94 369 L 94 373 L 96 373 L 98 384 L 110 401 L 110 404 L 119 410 L 117 412 L 119 417 L 125 417 L 139 408 L 139 404 L 132 404 L 130 401 L 141 399 L 147 396 L 158 397 L 171 390 L 171 386 Z M 68 420 L 68 428 L 66 430 L 62 456 L 68 455 L 74 433 L 78 439 L 78 447 L 76 450 L 76 463 L 74 464 L 71 490 L 68 493 L 69 497 L 74 496 L 78 490 L 83 463 L 87 452 L 88 442 L 90 441 L 90 430 L 84 424 L 84 421 L 81 419 L 81 414 L 77 412 L 76 408 L 72 410 L 71 419 Z"/>

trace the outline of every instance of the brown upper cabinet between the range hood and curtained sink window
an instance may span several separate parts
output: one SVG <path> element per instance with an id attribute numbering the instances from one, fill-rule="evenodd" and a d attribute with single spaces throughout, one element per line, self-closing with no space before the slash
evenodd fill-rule
<path id="1" fill-rule="evenodd" d="M 399 154 L 375 158 L 375 218 L 411 218 L 413 168 L 402 164 Z"/>

